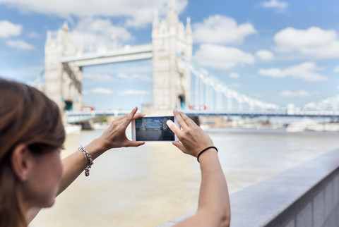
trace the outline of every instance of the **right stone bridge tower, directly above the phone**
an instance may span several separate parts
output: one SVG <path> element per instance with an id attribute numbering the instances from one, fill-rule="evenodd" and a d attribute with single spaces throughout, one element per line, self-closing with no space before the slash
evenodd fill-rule
<path id="1" fill-rule="evenodd" d="M 191 19 L 179 21 L 174 5 L 166 20 L 153 20 L 153 106 L 154 109 L 184 109 L 191 99 L 191 72 L 178 58 L 177 52 L 191 60 Z"/>

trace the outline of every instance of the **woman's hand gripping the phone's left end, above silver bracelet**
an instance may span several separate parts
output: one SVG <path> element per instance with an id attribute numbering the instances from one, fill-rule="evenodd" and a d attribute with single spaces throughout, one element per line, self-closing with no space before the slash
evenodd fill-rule
<path id="1" fill-rule="evenodd" d="M 141 113 L 136 114 L 136 111 L 138 111 L 138 107 L 134 108 L 131 113 L 125 114 L 116 121 L 113 121 L 109 128 L 97 138 L 97 141 L 100 142 L 99 146 L 103 150 L 106 151 L 107 149 L 118 147 L 138 147 L 145 144 L 145 142 L 141 141 L 131 141 L 126 137 L 126 128 L 129 123 L 136 118 L 145 116 L 145 114 Z"/>

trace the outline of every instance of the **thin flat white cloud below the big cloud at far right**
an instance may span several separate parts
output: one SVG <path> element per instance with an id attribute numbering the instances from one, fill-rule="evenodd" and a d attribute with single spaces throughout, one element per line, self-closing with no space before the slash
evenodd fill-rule
<path id="1" fill-rule="evenodd" d="M 258 71 L 259 75 L 266 75 L 273 78 L 286 78 L 292 77 L 301 80 L 306 80 L 309 82 L 318 82 L 323 80 L 328 80 L 326 76 L 315 73 L 316 64 L 313 62 L 301 63 L 297 66 L 292 66 L 290 68 L 280 69 L 280 68 L 269 68 L 269 69 L 260 69 Z"/>

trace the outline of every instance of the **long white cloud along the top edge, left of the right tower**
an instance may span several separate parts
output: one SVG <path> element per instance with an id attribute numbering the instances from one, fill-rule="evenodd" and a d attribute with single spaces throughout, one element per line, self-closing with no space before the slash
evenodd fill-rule
<path id="1" fill-rule="evenodd" d="M 54 15 L 61 18 L 78 18 L 93 16 L 124 17 L 125 25 L 142 27 L 152 23 L 155 10 L 165 16 L 169 9 L 168 0 L 0 0 L 0 4 L 8 4 L 24 13 L 35 12 Z M 178 13 L 182 13 L 188 0 L 176 0 Z"/>

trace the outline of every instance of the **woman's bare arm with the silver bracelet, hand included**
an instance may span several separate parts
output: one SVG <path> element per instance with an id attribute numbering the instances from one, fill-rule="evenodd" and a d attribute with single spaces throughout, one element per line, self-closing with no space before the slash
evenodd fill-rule
<path id="1" fill-rule="evenodd" d="M 144 116 L 144 114 L 136 114 L 138 108 L 134 108 L 130 114 L 126 114 L 114 121 L 104 133 L 87 146 L 85 150 L 93 159 L 96 159 L 108 149 L 117 147 L 138 147 L 145 144 L 145 142 L 131 141 L 126 137 L 126 128 L 133 119 Z M 62 173 L 61 182 L 59 185 L 58 195 L 73 183 L 76 178 L 88 166 L 88 160 L 85 158 L 83 152 L 76 151 L 62 160 L 64 171 Z M 28 222 L 35 218 L 40 208 L 31 209 L 28 211 Z"/>

